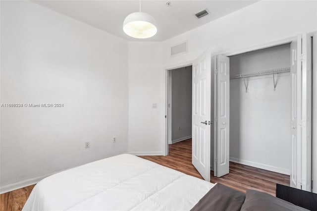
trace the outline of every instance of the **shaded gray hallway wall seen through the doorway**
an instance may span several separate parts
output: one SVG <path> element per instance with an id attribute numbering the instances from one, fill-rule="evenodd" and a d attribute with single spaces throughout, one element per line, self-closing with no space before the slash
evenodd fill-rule
<path id="1" fill-rule="evenodd" d="M 192 66 L 172 73 L 172 139 L 175 143 L 192 136 Z"/>

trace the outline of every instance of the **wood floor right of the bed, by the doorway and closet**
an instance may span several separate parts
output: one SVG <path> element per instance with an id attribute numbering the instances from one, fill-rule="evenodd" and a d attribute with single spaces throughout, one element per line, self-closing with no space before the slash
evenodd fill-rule
<path id="1" fill-rule="evenodd" d="M 202 178 L 196 168 L 192 165 L 191 139 L 169 145 L 168 156 L 140 157 L 186 174 Z M 222 183 L 242 192 L 246 192 L 247 189 L 254 189 L 275 196 L 276 183 L 289 186 L 289 175 L 230 162 L 229 174 L 218 178 L 214 177 L 213 171 L 211 171 L 210 181 L 212 183 Z"/>

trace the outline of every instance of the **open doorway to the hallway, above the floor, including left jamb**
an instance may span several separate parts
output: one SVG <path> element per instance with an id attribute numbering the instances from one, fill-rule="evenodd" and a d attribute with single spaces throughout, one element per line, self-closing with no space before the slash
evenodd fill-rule
<path id="1" fill-rule="evenodd" d="M 192 137 L 192 65 L 167 75 L 167 145 Z"/>

